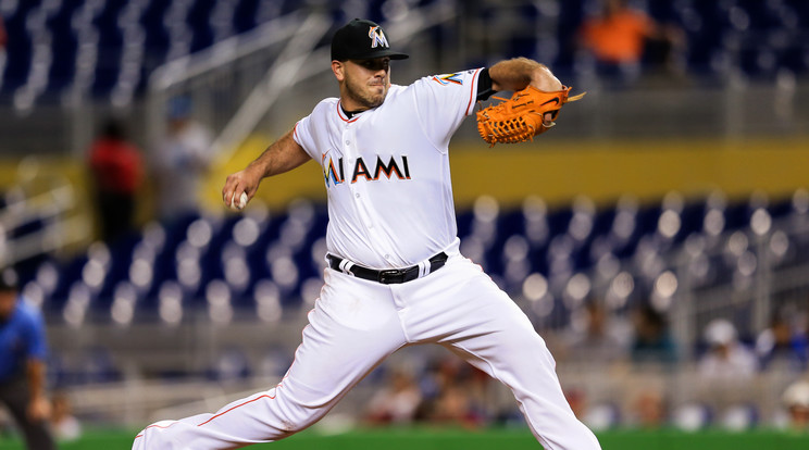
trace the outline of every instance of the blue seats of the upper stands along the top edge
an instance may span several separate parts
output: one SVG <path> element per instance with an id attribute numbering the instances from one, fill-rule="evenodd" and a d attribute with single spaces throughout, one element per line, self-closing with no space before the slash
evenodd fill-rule
<path id="1" fill-rule="evenodd" d="M 374 0 L 351 8 L 331 1 L 321 8 L 331 11 L 335 24 L 349 15 L 386 22 L 402 4 L 415 8 L 435 1 L 439 0 Z M 507 23 L 516 17 L 519 23 L 498 29 L 505 34 L 498 39 L 508 46 L 503 57 L 549 58 L 555 71 L 562 73 L 573 71 L 576 29 L 597 7 L 588 0 L 560 1 L 553 8 L 530 1 L 509 5 L 484 1 L 480 8 L 457 3 L 470 20 Z M 736 67 L 752 76 L 771 76 L 781 68 L 798 74 L 809 68 L 809 8 L 801 0 L 633 4 L 685 32 L 689 72 L 724 76 Z M 0 13 L 10 39 L 4 66 L 0 65 L 0 92 L 12 93 L 17 105 L 65 90 L 126 103 L 160 64 L 311 7 L 289 0 L 33 0 L 3 5 Z M 557 24 L 556 32 L 543 25 L 548 21 Z M 551 46 L 549 39 L 555 40 Z M 556 50 L 548 53 L 549 48 Z"/>

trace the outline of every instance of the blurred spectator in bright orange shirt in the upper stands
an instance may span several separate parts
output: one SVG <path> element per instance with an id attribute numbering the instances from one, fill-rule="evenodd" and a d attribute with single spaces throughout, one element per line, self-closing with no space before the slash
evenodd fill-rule
<path id="1" fill-rule="evenodd" d="M 679 28 L 630 9 L 625 0 L 603 0 L 601 14 L 585 20 L 578 30 L 581 47 L 595 58 L 599 75 L 624 80 L 640 74 L 645 53 L 651 63 L 669 63 L 683 36 Z"/>

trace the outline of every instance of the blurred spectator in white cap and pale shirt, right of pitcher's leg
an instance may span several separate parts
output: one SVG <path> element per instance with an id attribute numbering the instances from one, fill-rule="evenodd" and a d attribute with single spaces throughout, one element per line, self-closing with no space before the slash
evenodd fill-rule
<path id="1" fill-rule="evenodd" d="M 752 351 L 738 341 L 736 327 L 715 318 L 705 327 L 708 351 L 699 360 L 699 373 L 708 380 L 744 380 L 756 374 L 758 364 Z"/>

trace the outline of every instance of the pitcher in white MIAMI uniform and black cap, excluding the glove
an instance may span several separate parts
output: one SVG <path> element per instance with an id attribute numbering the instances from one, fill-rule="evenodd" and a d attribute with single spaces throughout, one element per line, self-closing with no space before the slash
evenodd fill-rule
<path id="1" fill-rule="evenodd" d="M 390 61 L 406 58 L 373 22 L 341 27 L 332 40 L 340 97 L 321 101 L 222 190 L 233 205 L 242 192 L 252 199 L 265 177 L 309 160 L 323 168 L 328 268 L 286 376 L 214 414 L 158 422 L 134 449 L 224 449 L 291 436 L 386 357 L 426 342 L 510 387 L 546 449 L 600 449 L 571 411 L 527 316 L 460 254 L 449 174 L 449 140 L 476 100 L 562 85 L 527 59 L 391 85 Z"/>

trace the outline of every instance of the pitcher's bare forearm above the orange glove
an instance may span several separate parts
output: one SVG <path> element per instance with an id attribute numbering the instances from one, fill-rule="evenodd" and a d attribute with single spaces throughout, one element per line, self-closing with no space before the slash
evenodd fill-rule
<path id="1" fill-rule="evenodd" d="M 489 76 L 494 90 L 522 90 L 528 85 L 546 92 L 562 88 L 562 84 L 545 64 L 527 58 L 500 61 L 489 67 Z"/>

